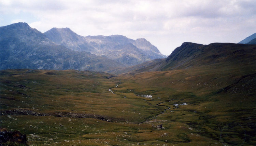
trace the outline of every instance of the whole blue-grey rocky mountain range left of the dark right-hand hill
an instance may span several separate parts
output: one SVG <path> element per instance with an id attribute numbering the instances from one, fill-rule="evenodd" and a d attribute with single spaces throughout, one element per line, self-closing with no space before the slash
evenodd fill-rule
<path id="1" fill-rule="evenodd" d="M 0 69 L 106 71 L 166 57 L 145 39 L 83 37 L 68 28 L 42 34 L 27 23 L 0 27 L 0 51 Z"/>

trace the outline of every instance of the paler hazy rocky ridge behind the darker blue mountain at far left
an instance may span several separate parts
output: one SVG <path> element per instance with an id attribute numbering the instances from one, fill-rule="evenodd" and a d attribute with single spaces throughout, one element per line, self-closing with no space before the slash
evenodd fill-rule
<path id="1" fill-rule="evenodd" d="M 126 66 L 156 58 L 166 58 L 144 38 L 133 40 L 122 35 L 84 37 L 77 35 L 69 28 L 53 28 L 44 34 L 53 42 L 71 50 L 104 56 Z"/>

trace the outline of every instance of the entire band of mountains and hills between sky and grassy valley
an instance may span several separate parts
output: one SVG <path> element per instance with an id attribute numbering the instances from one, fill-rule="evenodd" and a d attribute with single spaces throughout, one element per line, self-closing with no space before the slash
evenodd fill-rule
<path id="1" fill-rule="evenodd" d="M 166 58 L 143 38 L 84 37 L 69 28 L 53 28 L 41 33 L 19 22 L 0 27 L 0 69 L 76 69 L 119 74 L 220 63 L 255 63 L 255 45 L 250 45 L 255 44 L 255 37 L 256 33 L 238 44 L 184 42 Z"/>

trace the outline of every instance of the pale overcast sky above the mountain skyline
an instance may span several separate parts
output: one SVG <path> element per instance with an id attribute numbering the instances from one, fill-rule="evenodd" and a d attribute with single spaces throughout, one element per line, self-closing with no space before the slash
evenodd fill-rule
<path id="1" fill-rule="evenodd" d="M 255 0 L 0 0 L 0 26 L 27 22 L 42 33 L 145 38 L 170 55 L 183 42 L 237 43 L 256 33 Z"/>

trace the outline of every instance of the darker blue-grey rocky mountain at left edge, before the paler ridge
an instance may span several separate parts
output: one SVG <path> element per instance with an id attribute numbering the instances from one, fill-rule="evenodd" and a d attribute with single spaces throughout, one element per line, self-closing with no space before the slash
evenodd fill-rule
<path id="1" fill-rule="evenodd" d="M 70 50 L 49 40 L 27 23 L 0 27 L 0 70 L 51 69 L 104 71 L 122 66 L 89 52 Z"/>

